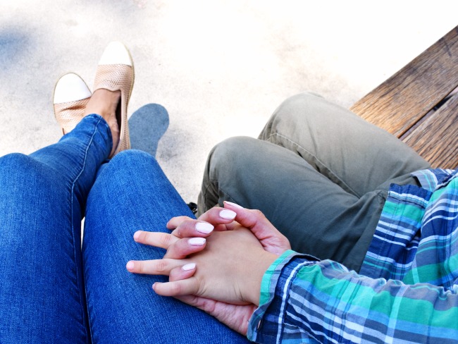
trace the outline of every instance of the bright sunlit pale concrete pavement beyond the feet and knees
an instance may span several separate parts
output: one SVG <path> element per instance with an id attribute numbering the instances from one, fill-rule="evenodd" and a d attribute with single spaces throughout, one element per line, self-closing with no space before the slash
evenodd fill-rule
<path id="1" fill-rule="evenodd" d="M 54 83 L 74 71 L 92 85 L 105 45 L 120 40 L 135 61 L 132 146 L 156 154 L 195 202 L 213 145 L 256 137 L 304 90 L 351 106 L 457 25 L 456 13 L 442 0 L 0 0 L 0 155 L 56 142 Z"/>

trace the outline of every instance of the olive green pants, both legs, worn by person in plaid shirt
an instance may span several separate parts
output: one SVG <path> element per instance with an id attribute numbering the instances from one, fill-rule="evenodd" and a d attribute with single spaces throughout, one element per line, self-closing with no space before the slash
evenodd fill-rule
<path id="1" fill-rule="evenodd" d="M 316 94 L 281 104 L 259 140 L 233 137 L 209 154 L 199 213 L 228 200 L 260 209 L 293 250 L 359 271 L 390 183 L 429 164 L 389 133 Z"/>

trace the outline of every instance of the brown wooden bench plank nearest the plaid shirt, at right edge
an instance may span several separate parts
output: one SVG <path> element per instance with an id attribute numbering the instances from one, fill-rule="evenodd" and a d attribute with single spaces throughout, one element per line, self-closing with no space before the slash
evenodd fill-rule
<path id="1" fill-rule="evenodd" d="M 433 167 L 458 168 L 458 94 L 404 137 Z"/>

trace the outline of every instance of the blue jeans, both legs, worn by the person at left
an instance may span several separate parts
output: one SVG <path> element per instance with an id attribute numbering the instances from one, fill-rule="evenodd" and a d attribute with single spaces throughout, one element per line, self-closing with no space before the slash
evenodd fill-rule
<path id="1" fill-rule="evenodd" d="M 0 343 L 247 342 L 156 295 L 166 277 L 125 269 L 165 252 L 135 231 L 167 232 L 192 213 L 154 157 L 132 150 L 106 163 L 110 150 L 108 125 L 90 115 L 56 145 L 0 158 Z"/>

